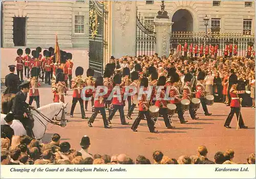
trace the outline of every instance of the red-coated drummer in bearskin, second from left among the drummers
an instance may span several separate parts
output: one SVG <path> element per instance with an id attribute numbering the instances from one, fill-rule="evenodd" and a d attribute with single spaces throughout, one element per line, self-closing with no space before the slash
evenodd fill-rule
<path id="1" fill-rule="evenodd" d="M 166 78 L 165 76 L 160 76 L 157 82 L 158 87 L 164 87 L 166 84 Z M 165 88 L 161 89 L 160 96 L 156 95 L 156 103 L 155 105 L 159 108 L 159 113 L 161 116 L 163 116 L 164 124 L 167 127 L 167 129 L 175 129 L 174 126 L 172 126 L 170 123 L 172 121 L 169 120 L 167 115 L 167 100 L 165 99 Z"/>

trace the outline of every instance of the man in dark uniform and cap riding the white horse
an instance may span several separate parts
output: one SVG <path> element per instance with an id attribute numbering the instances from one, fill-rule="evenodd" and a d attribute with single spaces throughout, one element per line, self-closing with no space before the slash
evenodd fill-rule
<path id="1" fill-rule="evenodd" d="M 28 96 L 28 92 L 30 89 L 29 82 L 23 82 L 19 85 L 20 91 L 16 94 L 13 100 L 12 112 L 15 119 L 20 120 L 22 122 L 27 135 L 29 137 L 33 137 L 32 131 L 32 116 L 30 115 L 29 109 L 34 109 L 34 107 L 30 106 L 26 103 L 26 99 Z"/>

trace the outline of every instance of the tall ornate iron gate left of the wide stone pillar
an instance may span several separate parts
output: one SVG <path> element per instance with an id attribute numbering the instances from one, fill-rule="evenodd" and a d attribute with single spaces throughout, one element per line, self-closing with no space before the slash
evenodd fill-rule
<path id="1" fill-rule="evenodd" d="M 103 1 L 89 1 L 89 67 L 95 76 L 103 73 L 104 14 Z"/>

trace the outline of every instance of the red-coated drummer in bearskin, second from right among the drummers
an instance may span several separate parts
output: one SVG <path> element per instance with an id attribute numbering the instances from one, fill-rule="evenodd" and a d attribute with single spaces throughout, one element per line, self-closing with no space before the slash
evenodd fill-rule
<path id="1" fill-rule="evenodd" d="M 183 87 L 183 97 L 182 99 L 188 99 L 190 100 L 189 104 L 189 114 L 192 119 L 199 119 L 199 117 L 196 117 L 196 110 L 193 108 L 193 103 L 191 103 L 191 90 L 190 90 L 190 82 L 193 78 L 193 75 L 191 73 L 186 73 L 184 82 L 185 85 Z"/>

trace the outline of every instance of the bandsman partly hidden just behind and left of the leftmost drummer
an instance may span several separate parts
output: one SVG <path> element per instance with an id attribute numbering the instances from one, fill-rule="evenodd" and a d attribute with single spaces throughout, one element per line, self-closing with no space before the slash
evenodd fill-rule
<path id="1" fill-rule="evenodd" d="M 131 73 L 131 80 L 132 80 L 132 83 L 130 84 L 130 86 L 134 86 L 135 88 L 137 88 L 137 93 L 135 95 L 132 96 L 132 99 L 133 99 L 133 104 L 131 106 L 131 108 L 128 109 L 128 114 L 127 114 L 127 118 L 128 119 L 132 119 L 131 116 L 132 116 L 132 113 L 133 113 L 133 110 L 134 108 L 136 107 L 136 104 L 134 103 L 135 100 L 137 100 L 138 98 L 138 90 L 139 90 L 139 73 L 137 71 L 133 71 Z M 129 91 L 130 93 L 133 92 L 132 89 L 130 89 Z"/>

